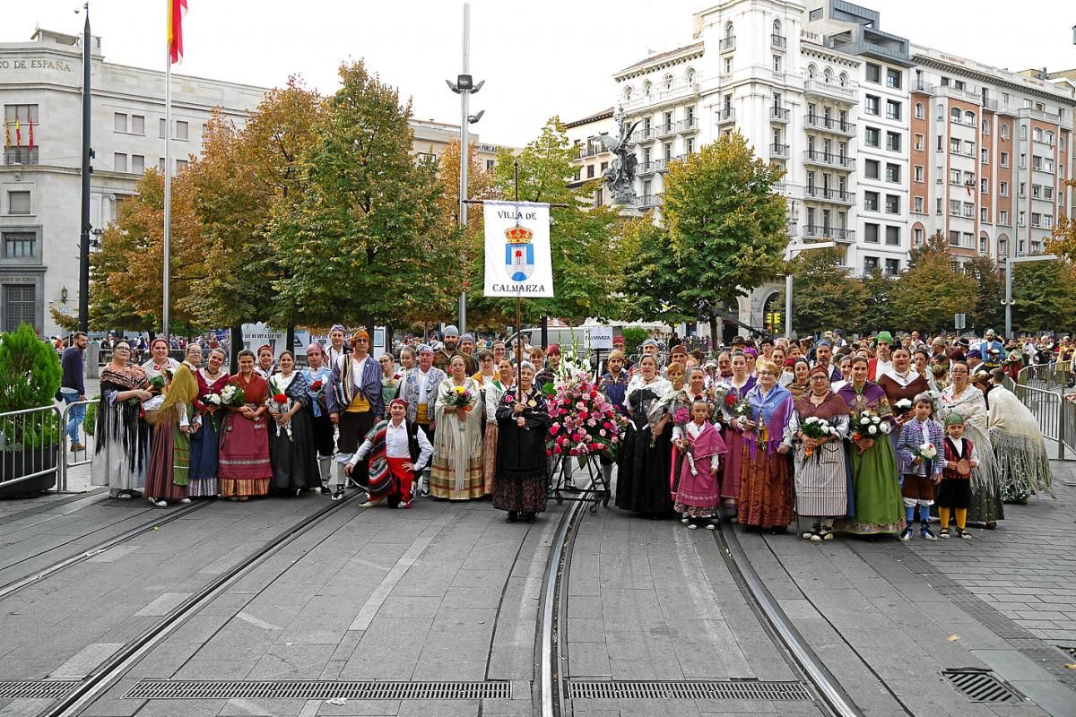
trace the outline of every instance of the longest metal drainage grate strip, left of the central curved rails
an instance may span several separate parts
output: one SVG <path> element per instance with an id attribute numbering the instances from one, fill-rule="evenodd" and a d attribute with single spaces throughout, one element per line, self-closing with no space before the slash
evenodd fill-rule
<path id="1" fill-rule="evenodd" d="M 126 699 L 140 700 L 511 700 L 509 682 L 390 683 L 318 679 L 266 682 L 142 679 Z"/>

